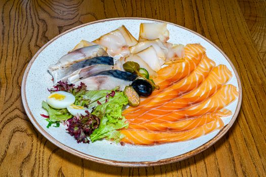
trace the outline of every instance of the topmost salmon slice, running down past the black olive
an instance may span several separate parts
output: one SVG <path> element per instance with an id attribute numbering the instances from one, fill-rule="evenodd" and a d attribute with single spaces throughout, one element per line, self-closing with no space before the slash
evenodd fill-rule
<path id="1" fill-rule="evenodd" d="M 128 112 L 140 109 L 141 107 L 145 106 L 150 100 L 155 98 L 160 92 L 166 89 L 169 85 L 186 77 L 196 68 L 202 57 L 205 56 L 205 50 L 206 49 L 199 44 L 186 45 L 186 47 L 184 48 L 185 51 L 184 62 L 168 65 L 158 71 L 158 77 L 154 79 L 154 81 L 157 85 L 160 86 L 160 90 L 155 90 L 147 98 L 141 98 L 138 107 L 130 106 L 129 108 L 124 110 L 123 114 L 125 115 Z M 170 70 L 172 70 L 172 72 L 168 73 L 169 75 L 167 75 L 166 71 Z"/>

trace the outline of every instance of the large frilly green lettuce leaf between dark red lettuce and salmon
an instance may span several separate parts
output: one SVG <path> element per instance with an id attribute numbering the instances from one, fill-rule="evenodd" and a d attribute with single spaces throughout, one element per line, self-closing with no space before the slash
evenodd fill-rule
<path id="1" fill-rule="evenodd" d="M 99 128 L 90 136 L 92 142 L 103 138 L 119 142 L 124 138 L 118 129 L 128 127 L 125 117 L 122 116 L 122 108 L 127 104 L 128 100 L 123 92 L 116 92 L 106 103 L 94 108 L 92 114 L 99 117 L 101 122 Z"/>

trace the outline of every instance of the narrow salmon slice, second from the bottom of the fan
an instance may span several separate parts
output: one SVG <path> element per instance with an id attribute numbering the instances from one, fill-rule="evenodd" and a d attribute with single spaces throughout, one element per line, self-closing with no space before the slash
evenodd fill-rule
<path id="1" fill-rule="evenodd" d="M 185 131 L 202 126 L 206 123 L 214 121 L 219 115 L 229 116 L 232 112 L 223 109 L 218 112 L 204 114 L 200 117 L 180 120 L 177 122 L 163 122 L 163 123 L 143 123 L 143 124 L 129 124 L 128 129 L 142 129 L 150 131 Z"/>

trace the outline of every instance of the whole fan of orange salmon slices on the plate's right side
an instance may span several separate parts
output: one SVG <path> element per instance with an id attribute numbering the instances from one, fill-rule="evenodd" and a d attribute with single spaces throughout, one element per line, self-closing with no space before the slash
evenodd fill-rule
<path id="1" fill-rule="evenodd" d="M 183 62 L 158 71 L 154 81 L 160 90 L 123 111 L 129 127 L 121 130 L 122 142 L 187 141 L 224 126 L 221 118 L 232 114 L 224 107 L 238 97 L 236 86 L 226 84 L 232 72 L 225 65 L 216 66 L 199 44 L 188 44 L 184 51 Z"/>

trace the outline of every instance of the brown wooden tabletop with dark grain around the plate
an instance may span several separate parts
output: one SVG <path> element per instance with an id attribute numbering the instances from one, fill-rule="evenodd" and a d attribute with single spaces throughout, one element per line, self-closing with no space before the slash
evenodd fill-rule
<path id="1" fill-rule="evenodd" d="M 1 1 L 0 176 L 266 176 L 266 3 L 230 1 Z M 146 17 L 192 29 L 232 60 L 243 86 L 233 127 L 186 160 L 122 168 L 57 148 L 30 123 L 20 87 L 32 56 L 72 27 L 105 18 Z"/>

